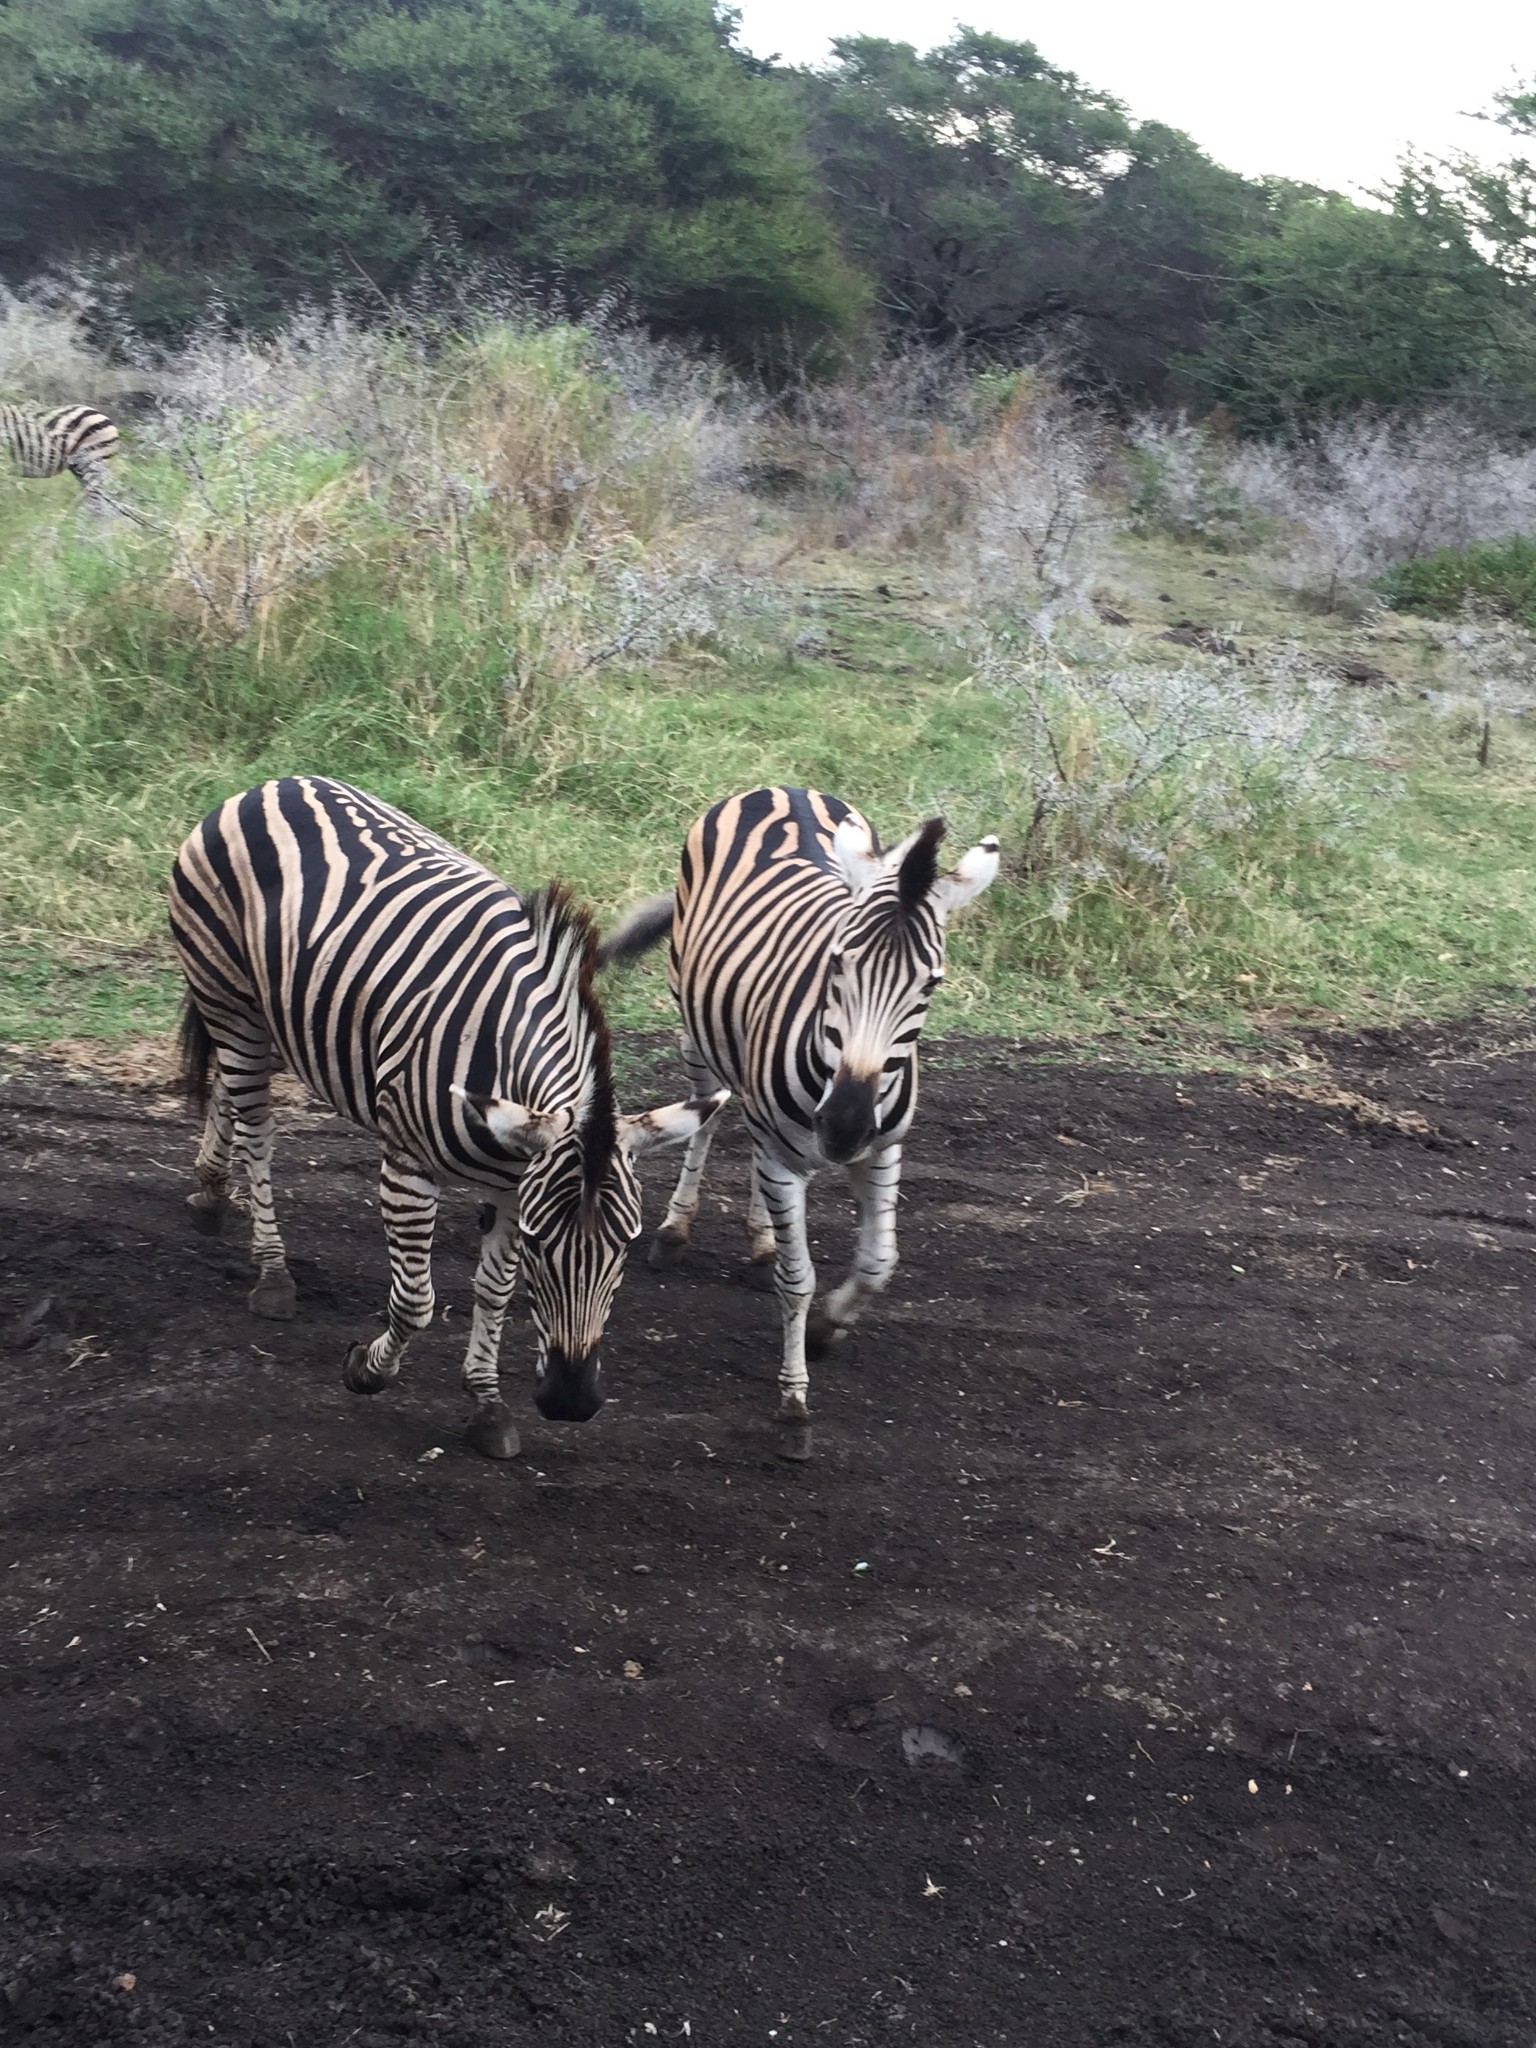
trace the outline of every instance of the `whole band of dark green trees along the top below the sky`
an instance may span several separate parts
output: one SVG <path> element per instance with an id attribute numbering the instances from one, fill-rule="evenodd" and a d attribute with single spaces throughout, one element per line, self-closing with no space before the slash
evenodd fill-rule
<path id="1" fill-rule="evenodd" d="M 748 55 L 713 0 L 8 0 L 0 279 L 98 334 L 246 332 L 469 272 L 793 381 L 870 332 L 1253 432 L 1536 397 L 1536 180 L 1243 178 L 1032 43 Z M 1493 80 L 1489 82 L 1495 84 Z M 1262 90 L 1262 84 L 1243 86 Z M 1522 147 L 1536 96 L 1495 94 Z"/>

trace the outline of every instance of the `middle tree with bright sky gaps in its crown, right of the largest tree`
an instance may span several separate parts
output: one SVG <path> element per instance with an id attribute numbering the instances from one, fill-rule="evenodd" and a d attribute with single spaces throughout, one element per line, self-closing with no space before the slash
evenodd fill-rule
<path id="1" fill-rule="evenodd" d="M 1069 334 L 1092 379 L 1167 395 L 1260 188 L 1032 43 L 967 29 L 926 55 L 874 37 L 834 51 L 801 76 L 811 143 L 887 317 L 1004 356 Z"/>

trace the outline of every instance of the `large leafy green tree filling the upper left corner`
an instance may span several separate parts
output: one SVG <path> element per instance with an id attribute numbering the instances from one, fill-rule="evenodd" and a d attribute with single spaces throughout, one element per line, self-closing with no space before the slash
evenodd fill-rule
<path id="1" fill-rule="evenodd" d="M 127 311 L 252 322 L 444 233 L 737 352 L 862 285 L 797 113 L 711 0 L 8 0 L 0 274 L 115 256 Z"/>

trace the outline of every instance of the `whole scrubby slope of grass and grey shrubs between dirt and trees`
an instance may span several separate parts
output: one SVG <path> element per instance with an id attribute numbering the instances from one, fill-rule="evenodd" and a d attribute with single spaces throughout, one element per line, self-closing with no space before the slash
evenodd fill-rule
<path id="1" fill-rule="evenodd" d="M 164 1028 L 176 844 L 295 770 L 604 915 L 758 780 L 995 829 L 940 1030 L 1274 1038 L 1522 995 L 1530 641 L 1370 590 L 1536 526 L 1536 457 L 1464 420 L 1124 432 L 934 352 L 774 395 L 494 301 L 113 371 L 12 301 L 10 385 L 70 365 L 156 399 L 117 510 L 0 477 L 12 1042 Z M 655 967 L 610 999 L 670 1012 Z"/>

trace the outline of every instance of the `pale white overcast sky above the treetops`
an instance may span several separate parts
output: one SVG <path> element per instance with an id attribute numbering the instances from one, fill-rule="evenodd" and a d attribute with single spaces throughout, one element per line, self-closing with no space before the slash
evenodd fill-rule
<path id="1" fill-rule="evenodd" d="M 834 35 L 930 49 L 956 23 L 1034 43 L 1141 121 L 1233 170 L 1362 197 L 1407 147 L 1511 154 L 1468 115 L 1536 74 L 1536 0 L 735 0 L 760 57 L 821 63 Z"/>

